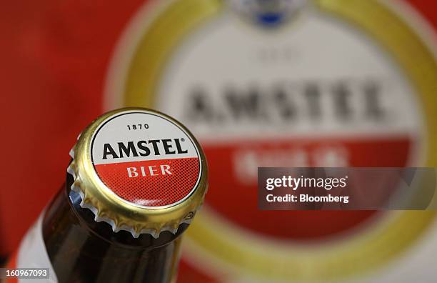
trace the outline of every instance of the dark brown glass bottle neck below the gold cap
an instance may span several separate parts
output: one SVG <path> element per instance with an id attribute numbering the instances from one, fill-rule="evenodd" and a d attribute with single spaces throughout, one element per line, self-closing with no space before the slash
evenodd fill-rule
<path id="1" fill-rule="evenodd" d="M 112 232 L 106 222 L 95 222 L 89 209 L 80 207 L 79 194 L 72 192 L 72 178 L 44 214 L 43 237 L 59 282 L 170 282 L 179 260 L 179 237 L 161 232 L 132 237 Z"/>

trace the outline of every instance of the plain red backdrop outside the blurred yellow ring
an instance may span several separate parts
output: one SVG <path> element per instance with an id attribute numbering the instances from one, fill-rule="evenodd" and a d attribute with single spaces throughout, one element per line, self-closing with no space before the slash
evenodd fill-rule
<path id="1" fill-rule="evenodd" d="M 437 1 L 409 2 L 437 29 Z M 103 111 L 114 44 L 142 3 L 2 1 L 0 254 L 64 182 L 76 136 Z"/>

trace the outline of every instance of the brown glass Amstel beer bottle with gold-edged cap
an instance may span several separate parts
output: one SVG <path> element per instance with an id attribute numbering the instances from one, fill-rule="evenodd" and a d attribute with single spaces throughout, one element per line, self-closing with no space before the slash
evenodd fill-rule
<path id="1" fill-rule="evenodd" d="M 9 268 L 46 268 L 48 282 L 171 282 L 206 187 L 204 153 L 182 124 L 110 111 L 79 136 L 66 184 Z"/>

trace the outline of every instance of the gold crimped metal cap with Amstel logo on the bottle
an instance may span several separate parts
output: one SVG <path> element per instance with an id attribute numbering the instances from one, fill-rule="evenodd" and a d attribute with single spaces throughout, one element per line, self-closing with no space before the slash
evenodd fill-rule
<path id="1" fill-rule="evenodd" d="M 206 159 L 185 126 L 157 111 L 125 108 L 93 121 L 67 171 L 81 207 L 134 237 L 176 233 L 204 201 Z"/>

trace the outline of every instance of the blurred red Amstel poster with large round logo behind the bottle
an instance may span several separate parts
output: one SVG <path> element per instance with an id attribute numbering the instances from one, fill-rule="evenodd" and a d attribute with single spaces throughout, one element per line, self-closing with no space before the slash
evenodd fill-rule
<path id="1" fill-rule="evenodd" d="M 433 282 L 435 212 L 256 207 L 257 167 L 436 167 L 437 4 L 4 1 L 0 253 L 102 111 L 146 106 L 203 143 L 210 188 L 179 282 Z"/>

